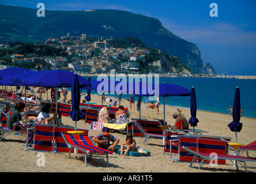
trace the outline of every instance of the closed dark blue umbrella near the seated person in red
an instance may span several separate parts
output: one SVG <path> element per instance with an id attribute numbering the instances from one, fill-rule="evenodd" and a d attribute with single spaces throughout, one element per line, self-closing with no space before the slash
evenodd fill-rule
<path id="1" fill-rule="evenodd" d="M 189 119 L 189 124 L 192 127 L 196 127 L 199 122 L 197 119 L 197 97 L 195 95 L 194 87 L 191 88 L 191 96 L 190 96 L 190 114 L 191 117 Z"/>

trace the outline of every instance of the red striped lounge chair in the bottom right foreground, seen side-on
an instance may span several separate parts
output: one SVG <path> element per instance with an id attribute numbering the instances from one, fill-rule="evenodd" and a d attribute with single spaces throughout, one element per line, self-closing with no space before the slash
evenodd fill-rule
<path id="1" fill-rule="evenodd" d="M 235 160 L 235 166 L 236 169 L 238 170 L 238 161 L 243 162 L 244 163 L 244 168 L 247 171 L 247 166 L 246 166 L 246 162 L 255 162 L 255 160 L 247 158 L 245 156 L 236 156 L 236 155 L 225 155 L 225 154 L 209 154 L 209 153 L 202 153 L 202 152 L 197 152 L 197 151 L 193 151 L 190 148 L 187 148 L 185 146 L 179 145 L 178 143 L 172 143 L 172 145 L 175 145 L 176 147 L 179 147 L 179 150 L 185 150 L 186 152 L 189 152 L 190 154 L 194 155 L 194 158 L 192 159 L 191 163 L 190 163 L 190 167 L 192 166 L 192 164 L 194 163 L 195 159 L 202 159 L 201 163 L 199 164 L 199 168 L 201 168 L 202 164 L 204 163 L 209 163 L 211 159 L 216 159 L 215 157 L 217 156 L 218 159 L 221 160 Z M 205 162 L 205 160 L 207 162 Z M 232 162 L 233 163 L 233 162 Z"/>

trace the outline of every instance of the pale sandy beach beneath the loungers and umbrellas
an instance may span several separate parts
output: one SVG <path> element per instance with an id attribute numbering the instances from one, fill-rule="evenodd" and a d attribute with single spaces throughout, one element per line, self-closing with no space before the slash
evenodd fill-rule
<path id="1" fill-rule="evenodd" d="M 82 94 L 81 99 L 84 99 L 86 94 Z M 68 99 L 70 99 L 71 92 L 69 91 Z M 46 99 L 46 94 L 43 94 L 43 99 Z M 2 100 L 2 99 L 1 99 Z M 61 95 L 63 100 L 63 95 Z M 96 104 L 101 104 L 101 98 L 99 95 L 92 95 L 92 101 Z M 104 102 L 106 104 L 107 102 Z M 131 118 L 139 118 L 139 112 L 134 109 L 130 109 L 130 104 L 126 99 L 123 99 L 121 104 L 125 107 L 129 107 L 129 113 Z M 137 102 L 135 102 L 135 105 Z M 141 118 L 148 118 L 154 120 L 154 118 L 163 118 L 163 102 L 160 102 L 160 113 L 156 114 L 156 110 L 146 109 L 146 104 L 142 103 Z M 177 108 L 171 106 L 165 106 L 165 121 L 168 124 L 174 123 L 171 113 L 176 112 Z M 181 109 L 182 114 L 185 114 L 187 120 L 190 118 L 189 109 Z M 208 131 L 206 135 L 225 136 L 232 137 L 235 141 L 235 132 L 231 132 L 227 125 L 232 121 L 232 116 L 228 116 L 228 112 L 225 114 L 212 113 L 198 111 L 197 118 L 199 120 L 197 129 Z M 52 114 L 51 114 L 52 116 Z M 62 122 L 65 127 L 74 127 L 74 121 L 70 117 L 62 117 Z M 243 123 L 243 129 L 238 133 L 238 142 L 249 144 L 256 140 L 256 119 L 241 117 L 240 122 Z M 85 124 L 84 120 L 77 122 L 77 128 L 89 129 L 89 136 L 93 137 L 98 135 L 99 131 L 93 131 L 90 129 L 90 124 Z M 126 139 L 126 135 L 113 132 L 112 135 L 120 139 L 119 144 L 123 143 Z M 193 164 L 193 167 L 189 167 L 189 163 L 185 162 L 172 162 L 169 160 L 170 155 L 162 154 L 164 150 L 163 140 L 150 139 L 142 144 L 143 137 L 134 137 L 137 145 L 140 145 L 144 150 L 150 151 L 151 156 L 126 156 L 110 155 L 109 163 L 110 167 L 107 167 L 106 156 L 92 156 L 87 159 L 88 167 L 84 166 L 83 155 L 71 154 L 68 158 L 68 153 L 42 152 L 45 158 L 45 166 L 38 166 L 37 162 L 40 158 L 37 151 L 25 151 L 22 145 L 25 136 L 9 135 L 6 136 L 0 142 L 0 172 L 67 172 L 67 173 L 244 173 L 244 168 L 239 167 L 240 171 L 237 171 L 231 161 L 227 161 L 226 165 L 210 166 L 204 164 L 201 170 L 198 170 L 198 163 Z M 230 151 L 229 154 L 234 154 Z M 243 154 L 246 156 L 246 154 Z M 256 152 L 249 152 L 249 156 L 253 159 L 256 158 Z M 174 158 L 178 158 L 178 155 L 174 155 Z M 256 162 L 247 162 L 247 169 L 250 173 L 256 172 Z"/>

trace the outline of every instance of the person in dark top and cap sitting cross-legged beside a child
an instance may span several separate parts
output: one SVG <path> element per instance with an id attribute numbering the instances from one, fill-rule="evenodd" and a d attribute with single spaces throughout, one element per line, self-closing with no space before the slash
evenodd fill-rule
<path id="1" fill-rule="evenodd" d="M 119 143 L 119 139 L 110 134 L 110 129 L 107 127 L 103 128 L 102 133 L 92 138 L 95 145 L 106 150 L 115 151 L 116 145 Z M 110 144 L 110 141 L 113 144 Z"/>

